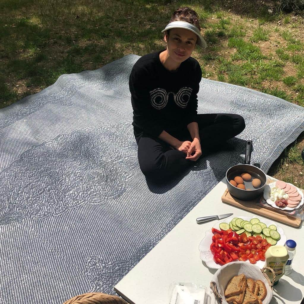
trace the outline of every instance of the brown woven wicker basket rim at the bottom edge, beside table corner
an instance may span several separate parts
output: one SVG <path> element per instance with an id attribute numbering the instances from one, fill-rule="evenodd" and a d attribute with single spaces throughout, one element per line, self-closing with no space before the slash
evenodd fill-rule
<path id="1" fill-rule="evenodd" d="M 107 295 L 101 292 L 89 292 L 83 295 L 76 295 L 67 300 L 64 304 L 128 304 L 124 299 L 116 295 Z"/>

